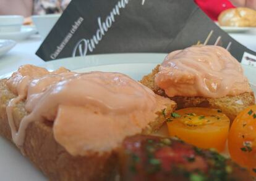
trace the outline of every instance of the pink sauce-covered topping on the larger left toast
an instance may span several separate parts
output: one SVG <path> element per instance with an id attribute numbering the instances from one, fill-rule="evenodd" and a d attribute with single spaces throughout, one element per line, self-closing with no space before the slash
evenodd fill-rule
<path id="1" fill-rule="evenodd" d="M 154 121 L 156 111 L 170 103 L 121 73 L 47 71 L 35 76 L 26 73 L 27 69 L 40 71 L 25 65 L 7 82 L 13 92 L 22 92 L 7 107 L 12 138 L 18 147 L 23 145 L 28 124 L 48 120 L 54 121 L 54 138 L 71 155 L 110 151 L 125 137 L 142 132 Z M 24 79 L 29 81 L 24 83 Z M 21 98 L 27 98 L 28 115 L 17 131 L 12 108 Z"/>

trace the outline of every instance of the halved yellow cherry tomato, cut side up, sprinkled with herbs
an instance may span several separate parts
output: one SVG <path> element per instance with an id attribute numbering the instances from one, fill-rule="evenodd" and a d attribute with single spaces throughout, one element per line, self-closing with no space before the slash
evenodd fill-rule
<path id="1" fill-rule="evenodd" d="M 229 118 L 221 110 L 185 108 L 167 119 L 169 135 L 199 148 L 223 151 L 228 139 Z"/>

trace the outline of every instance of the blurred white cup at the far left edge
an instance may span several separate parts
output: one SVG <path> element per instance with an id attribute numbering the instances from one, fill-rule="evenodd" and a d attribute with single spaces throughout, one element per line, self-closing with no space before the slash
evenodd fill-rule
<path id="1" fill-rule="evenodd" d="M 20 15 L 0 15 L 0 33 L 20 31 L 23 20 Z"/>

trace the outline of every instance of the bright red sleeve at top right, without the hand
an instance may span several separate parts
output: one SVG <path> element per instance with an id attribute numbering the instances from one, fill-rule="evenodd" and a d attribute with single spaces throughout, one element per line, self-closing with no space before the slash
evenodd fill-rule
<path id="1" fill-rule="evenodd" d="M 228 0 L 195 0 L 195 3 L 214 21 L 223 10 L 234 8 Z"/>

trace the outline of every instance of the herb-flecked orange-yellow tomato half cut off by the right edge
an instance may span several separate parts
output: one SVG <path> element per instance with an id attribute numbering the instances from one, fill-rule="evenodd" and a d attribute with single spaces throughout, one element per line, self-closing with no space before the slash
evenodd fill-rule
<path id="1" fill-rule="evenodd" d="M 228 135 L 231 158 L 256 176 L 256 105 L 237 115 Z"/>

